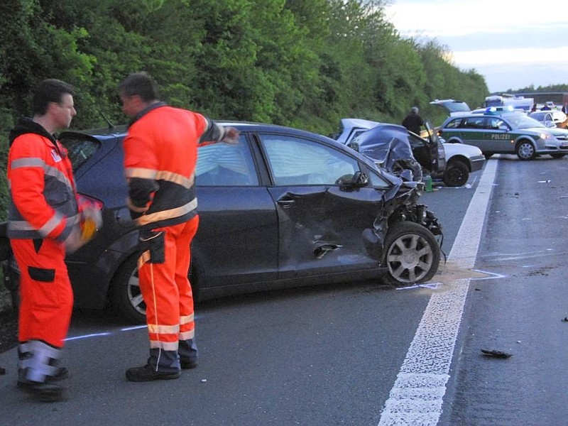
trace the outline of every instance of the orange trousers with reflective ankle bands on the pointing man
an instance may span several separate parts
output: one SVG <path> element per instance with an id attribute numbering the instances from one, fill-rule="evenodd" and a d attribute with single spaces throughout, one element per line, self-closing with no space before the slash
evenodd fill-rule
<path id="1" fill-rule="evenodd" d="M 187 273 L 190 245 L 198 225 L 196 216 L 182 224 L 153 229 L 165 234 L 164 262 L 148 262 L 147 253 L 138 262 L 151 349 L 177 351 L 180 340 L 193 339 L 195 335 L 193 294 Z"/>

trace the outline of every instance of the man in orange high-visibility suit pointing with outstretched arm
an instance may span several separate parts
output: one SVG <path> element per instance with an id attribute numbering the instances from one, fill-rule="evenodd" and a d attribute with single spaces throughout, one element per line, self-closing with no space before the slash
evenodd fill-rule
<path id="1" fill-rule="evenodd" d="M 239 131 L 201 114 L 169 107 L 145 72 L 121 82 L 124 113 L 132 118 L 124 138 L 124 168 L 131 217 L 140 226 L 138 278 L 150 339 L 150 357 L 129 368 L 129 381 L 180 377 L 197 366 L 193 296 L 187 273 L 197 231 L 194 173 L 197 147 L 237 143 Z"/>

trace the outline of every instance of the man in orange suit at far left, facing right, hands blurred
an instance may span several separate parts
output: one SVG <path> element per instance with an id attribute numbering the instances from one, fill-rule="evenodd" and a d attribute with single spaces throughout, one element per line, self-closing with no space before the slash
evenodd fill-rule
<path id="1" fill-rule="evenodd" d="M 57 366 L 73 305 L 65 253 L 86 242 L 84 215 L 97 214 L 77 196 L 67 151 L 53 136 L 76 114 L 72 94 L 65 82 L 43 80 L 33 118 L 10 133 L 8 236 L 21 271 L 18 388 L 43 401 L 64 399 L 65 388 L 54 382 L 68 376 Z"/>

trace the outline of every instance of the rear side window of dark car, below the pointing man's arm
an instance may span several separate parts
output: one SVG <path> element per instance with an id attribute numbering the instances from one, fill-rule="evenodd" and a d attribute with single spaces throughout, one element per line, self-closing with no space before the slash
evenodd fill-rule
<path id="1" fill-rule="evenodd" d="M 258 175 L 246 136 L 239 143 L 212 143 L 197 149 L 197 186 L 258 186 Z"/>

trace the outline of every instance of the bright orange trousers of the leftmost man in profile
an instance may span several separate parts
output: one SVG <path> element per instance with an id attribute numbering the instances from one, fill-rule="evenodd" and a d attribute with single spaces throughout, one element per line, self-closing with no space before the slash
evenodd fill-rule
<path id="1" fill-rule="evenodd" d="M 52 239 L 35 241 L 10 241 L 21 271 L 18 340 L 40 340 L 62 348 L 73 307 L 65 248 Z"/>

